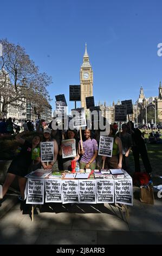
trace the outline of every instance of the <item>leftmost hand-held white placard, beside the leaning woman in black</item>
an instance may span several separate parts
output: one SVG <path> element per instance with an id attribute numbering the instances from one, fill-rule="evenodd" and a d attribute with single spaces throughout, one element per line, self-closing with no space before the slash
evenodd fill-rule
<path id="1" fill-rule="evenodd" d="M 54 161 L 54 142 L 41 142 L 41 161 Z"/>

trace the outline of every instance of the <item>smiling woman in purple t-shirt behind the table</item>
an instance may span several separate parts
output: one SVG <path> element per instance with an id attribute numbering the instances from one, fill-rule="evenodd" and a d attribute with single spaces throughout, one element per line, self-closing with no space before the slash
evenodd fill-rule
<path id="1" fill-rule="evenodd" d="M 79 142 L 80 169 L 94 170 L 96 167 L 95 159 L 98 156 L 98 143 L 91 138 L 91 131 L 84 131 L 83 149 L 81 149 L 81 141 Z"/>

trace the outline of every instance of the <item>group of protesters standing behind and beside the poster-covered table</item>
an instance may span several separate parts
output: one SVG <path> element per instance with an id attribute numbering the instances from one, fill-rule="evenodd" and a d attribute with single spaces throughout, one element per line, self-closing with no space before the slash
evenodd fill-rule
<path id="1" fill-rule="evenodd" d="M 47 126 L 47 124 L 44 124 L 44 120 L 40 120 L 36 125 L 36 133 L 31 142 L 29 142 L 23 136 L 26 133 L 30 133 L 30 130 L 24 128 L 24 131 L 18 133 L 15 137 L 17 142 L 22 145 L 22 149 L 20 154 L 10 164 L 7 179 L 3 185 L 3 196 L 16 176 L 18 176 L 20 191 L 22 198 L 24 198 L 25 175 L 31 172 L 31 170 L 38 168 L 46 170 L 71 170 L 71 161 L 73 160 L 79 164 L 80 169 L 101 169 L 103 168 L 102 162 L 104 161 L 105 169 L 123 168 L 129 172 L 128 159 L 131 150 L 134 157 L 135 172 L 140 172 L 139 157 L 141 156 L 146 172 L 151 174 L 152 167 L 148 159 L 147 149 L 141 131 L 134 127 L 132 121 L 122 124 L 121 129 L 121 131 L 118 130 L 116 123 L 110 125 L 108 136 L 114 138 L 112 157 L 105 157 L 98 155 L 100 130 L 89 130 L 86 127 L 85 130 L 82 130 L 81 141 L 78 131 L 70 129 L 67 131 L 53 130 L 51 123 Z M 63 159 L 61 150 L 62 140 L 72 138 L 75 138 L 77 154 L 75 157 Z M 41 162 L 40 156 L 35 160 L 31 160 L 32 149 L 40 147 L 40 142 L 54 142 L 53 161 L 49 163 Z"/>

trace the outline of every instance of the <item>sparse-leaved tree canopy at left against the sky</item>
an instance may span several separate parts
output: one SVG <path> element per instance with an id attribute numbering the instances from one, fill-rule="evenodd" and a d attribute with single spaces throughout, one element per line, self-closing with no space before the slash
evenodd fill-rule
<path id="1" fill-rule="evenodd" d="M 20 45 L 0 40 L 3 56 L 0 57 L 0 100 L 1 112 L 5 115 L 8 105 L 27 99 L 34 102 L 36 114 L 43 112 L 49 105 L 50 96 L 47 90 L 51 77 L 40 73 L 38 66 L 30 59 Z"/>

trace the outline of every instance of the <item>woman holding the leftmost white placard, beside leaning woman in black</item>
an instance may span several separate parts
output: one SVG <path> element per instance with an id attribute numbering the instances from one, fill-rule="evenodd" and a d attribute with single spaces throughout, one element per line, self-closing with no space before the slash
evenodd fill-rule
<path id="1" fill-rule="evenodd" d="M 44 129 L 43 131 L 43 140 L 42 142 L 54 142 L 54 161 L 49 162 L 49 164 L 47 164 L 47 162 L 41 162 L 42 163 L 42 167 L 44 169 L 57 169 L 58 170 L 58 166 L 57 166 L 57 155 L 58 155 L 58 145 L 55 139 L 51 139 L 51 129 L 49 127 L 47 127 L 46 129 Z"/>

